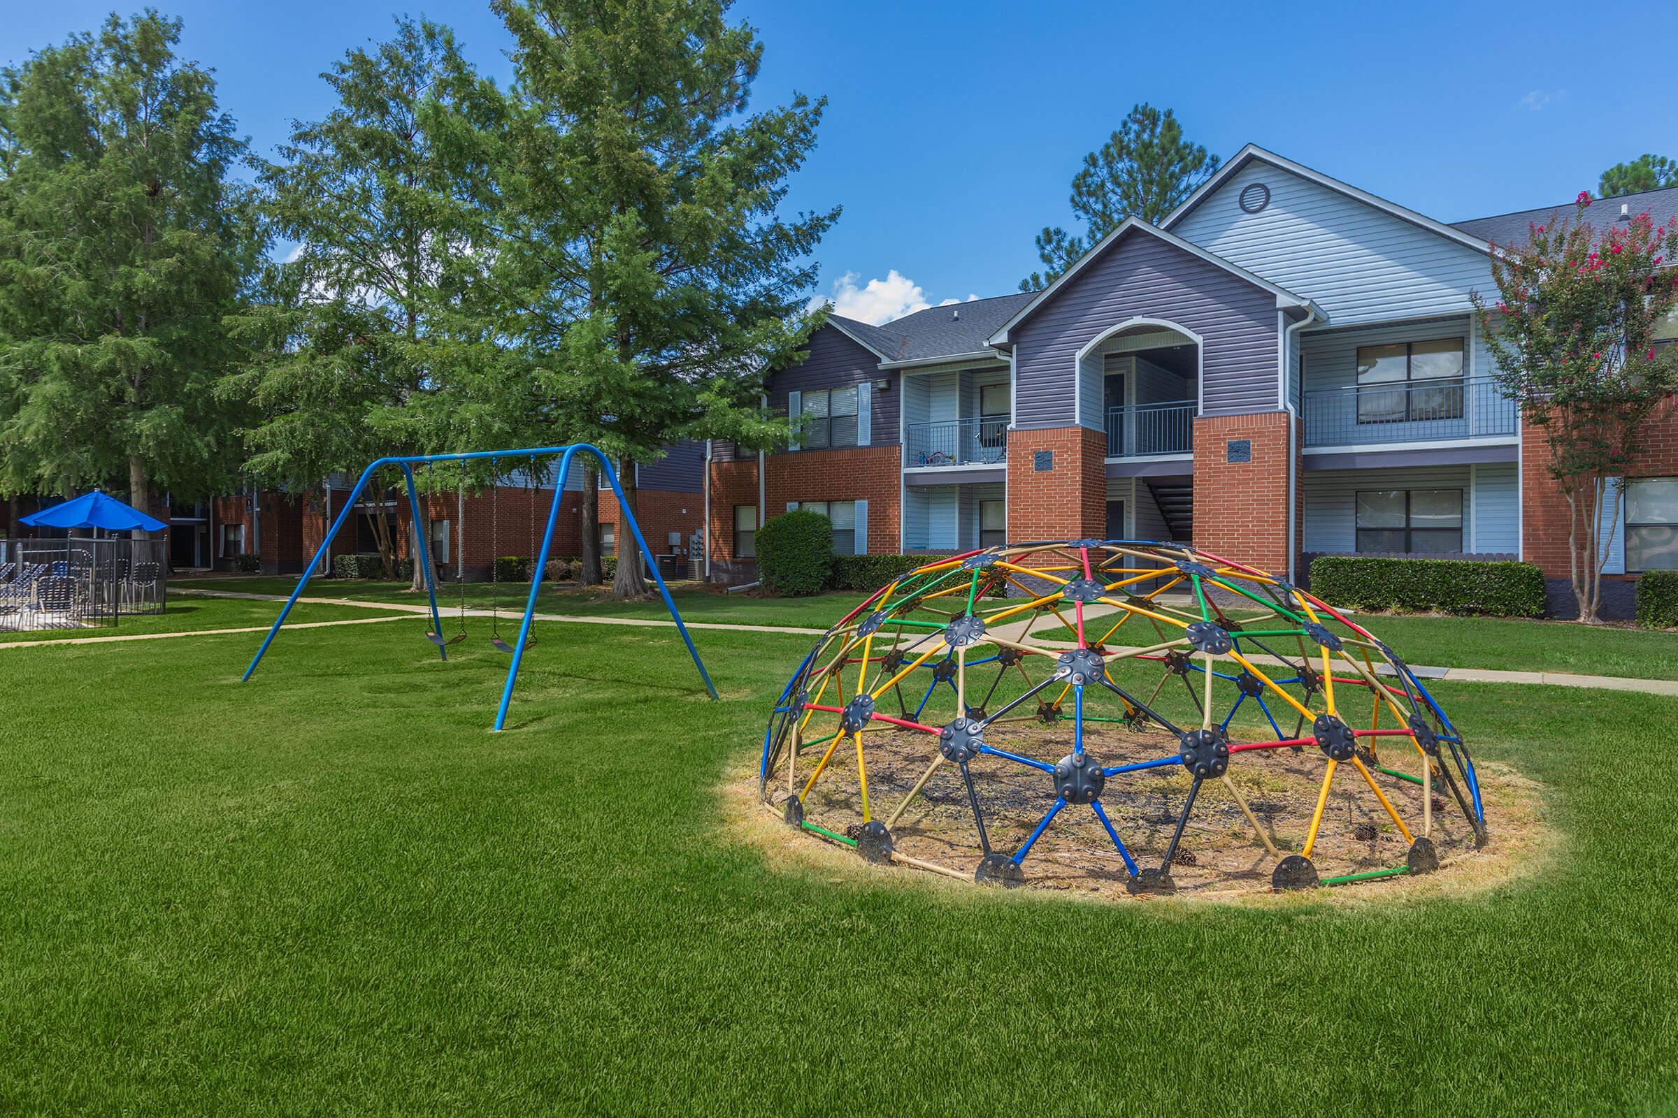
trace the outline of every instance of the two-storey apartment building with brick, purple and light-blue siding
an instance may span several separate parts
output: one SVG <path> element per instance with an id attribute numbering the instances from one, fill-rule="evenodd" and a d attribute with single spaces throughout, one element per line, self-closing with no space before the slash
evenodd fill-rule
<path id="1" fill-rule="evenodd" d="M 814 506 L 859 553 L 1176 540 L 1290 578 L 1379 553 L 1519 556 L 1564 582 L 1542 431 L 1497 391 L 1470 303 L 1493 290 L 1492 241 L 1557 210 L 1572 203 L 1446 225 L 1247 146 L 1042 292 L 879 327 L 834 315 L 769 380 L 799 443 L 708 446 L 708 577 L 750 578 L 755 530 Z M 1678 215 L 1678 189 L 1586 216 L 1641 211 Z M 1675 476 L 1668 409 L 1609 573 L 1678 565 Z"/>

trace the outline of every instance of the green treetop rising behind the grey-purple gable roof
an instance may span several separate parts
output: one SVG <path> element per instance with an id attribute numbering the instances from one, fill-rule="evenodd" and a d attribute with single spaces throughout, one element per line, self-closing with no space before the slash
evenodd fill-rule
<path id="1" fill-rule="evenodd" d="M 1037 235 L 1042 272 L 1020 280 L 1022 292 L 1037 292 L 1071 268 L 1079 256 L 1136 216 L 1158 225 L 1196 186 L 1218 171 L 1218 158 L 1183 139 L 1183 126 L 1170 109 L 1143 102 L 1099 149 L 1084 156 L 1072 176 L 1072 213 L 1084 220 L 1084 235 L 1047 226 Z"/>

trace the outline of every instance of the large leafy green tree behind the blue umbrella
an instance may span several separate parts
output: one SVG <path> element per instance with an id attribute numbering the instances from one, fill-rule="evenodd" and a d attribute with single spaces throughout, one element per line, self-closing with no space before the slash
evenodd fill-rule
<path id="1" fill-rule="evenodd" d="M 111 17 L 0 72 L 0 486 L 198 498 L 237 476 L 221 325 L 263 241 L 181 23 Z"/>

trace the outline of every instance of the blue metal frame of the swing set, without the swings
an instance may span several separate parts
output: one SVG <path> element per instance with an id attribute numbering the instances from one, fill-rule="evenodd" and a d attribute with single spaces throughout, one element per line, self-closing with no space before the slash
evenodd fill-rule
<path id="1" fill-rule="evenodd" d="M 717 687 L 711 686 L 710 672 L 705 670 L 705 664 L 703 660 L 700 660 L 700 650 L 693 647 L 693 637 L 688 635 L 688 627 L 681 622 L 681 612 L 676 610 L 676 602 L 670 597 L 670 587 L 664 585 L 664 577 L 659 575 L 658 572 L 658 558 L 653 555 L 653 548 L 646 545 L 646 538 L 641 535 L 641 525 L 638 525 L 634 515 L 629 513 L 629 506 L 624 501 L 623 486 L 618 484 L 618 471 L 612 469 L 611 461 L 606 458 L 606 454 L 601 453 L 599 448 L 591 446 L 587 443 L 569 443 L 565 446 L 537 446 L 537 448 L 522 448 L 512 451 L 470 451 L 465 454 L 408 454 L 408 456 L 379 458 L 369 463 L 367 468 L 361 471 L 361 478 L 356 479 L 356 488 L 349 491 L 349 498 L 344 501 L 344 508 L 339 510 L 337 520 L 332 521 L 332 528 L 326 533 L 326 540 L 320 541 L 320 546 L 319 550 L 315 550 L 314 558 L 309 560 L 309 567 L 304 568 L 304 577 L 297 580 L 297 588 L 292 590 L 292 597 L 285 600 L 285 608 L 280 610 L 280 615 L 275 619 L 274 629 L 270 629 L 268 635 L 262 639 L 262 647 L 257 649 L 257 655 L 252 657 L 250 667 L 245 669 L 245 674 L 240 677 L 240 682 L 248 681 L 252 674 L 257 670 L 257 664 L 262 662 L 262 657 L 268 650 L 268 645 L 274 644 L 274 637 L 279 635 L 280 625 L 285 624 L 285 619 L 292 612 L 292 607 L 297 605 L 297 598 L 302 597 L 302 592 L 309 585 L 309 580 L 314 578 L 315 570 L 319 570 L 322 556 L 326 556 L 327 548 L 332 546 L 332 540 L 337 538 L 339 530 L 349 521 L 351 515 L 354 513 L 356 501 L 361 498 L 361 491 L 367 488 L 367 481 L 373 478 L 373 473 L 376 469 L 383 466 L 401 466 L 403 481 L 408 486 L 408 511 L 413 516 L 413 523 L 420 523 L 420 494 L 414 486 L 414 469 L 413 469 L 416 464 L 465 463 L 485 458 L 534 459 L 537 456 L 559 454 L 560 456 L 559 474 L 554 478 L 554 499 L 547 510 L 547 528 L 542 531 L 542 548 L 537 551 L 535 556 L 535 570 L 530 572 L 530 597 L 525 600 L 524 620 L 519 622 L 519 642 L 513 645 L 512 664 L 507 665 L 507 684 L 502 687 L 502 702 L 500 707 L 495 711 L 495 729 L 502 729 L 507 724 L 507 707 L 512 706 L 513 684 L 519 682 L 519 665 L 524 660 L 525 640 L 530 635 L 530 620 L 532 617 L 535 617 L 535 597 L 537 592 L 542 588 L 542 570 L 547 567 L 547 553 L 554 543 L 554 528 L 555 525 L 559 525 L 559 505 L 565 494 L 565 478 L 571 474 L 571 459 L 576 458 L 579 453 L 594 456 L 594 459 L 601 464 L 601 476 L 604 476 L 611 483 L 612 493 L 618 496 L 618 508 L 623 513 L 624 520 L 629 523 L 629 531 L 631 535 L 634 535 L 636 546 L 641 548 L 641 555 L 646 556 L 646 567 L 653 575 L 653 582 L 658 583 L 658 592 L 663 595 L 664 605 L 670 608 L 671 620 L 676 622 L 676 630 L 681 634 L 681 640 L 688 645 L 688 655 L 693 657 L 693 667 L 700 669 L 700 679 L 705 681 L 705 691 L 710 692 L 711 699 L 717 699 Z M 425 572 L 426 598 L 431 603 L 431 632 L 441 634 L 443 620 L 436 608 L 436 582 L 431 572 L 431 550 L 423 533 L 414 533 L 414 538 L 420 545 L 420 568 Z M 438 655 L 443 657 L 443 660 L 448 660 L 448 649 L 445 645 L 438 645 Z"/>

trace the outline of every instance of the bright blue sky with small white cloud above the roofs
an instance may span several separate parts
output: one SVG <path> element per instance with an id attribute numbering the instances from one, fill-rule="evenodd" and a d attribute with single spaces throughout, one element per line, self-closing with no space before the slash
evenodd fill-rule
<path id="1" fill-rule="evenodd" d="M 319 74 L 388 34 L 391 3 L 176 0 L 183 54 L 216 69 L 258 151 L 329 109 Z M 0 59 L 92 28 L 104 3 L 0 0 Z M 406 8 L 456 28 L 505 79 L 487 3 Z M 1670 8 L 1649 5 L 1129 5 L 742 0 L 765 42 L 757 104 L 826 94 L 789 204 L 839 203 L 821 293 L 878 318 L 1002 295 L 1066 223 L 1082 154 L 1138 101 L 1228 158 L 1252 141 L 1455 221 L 1596 188 L 1644 151 L 1678 158 Z M 896 273 L 896 278 L 893 278 Z M 871 290 L 869 282 L 876 282 Z M 839 287 L 836 287 L 839 285 Z M 851 293 L 851 290 L 856 293 Z"/>

